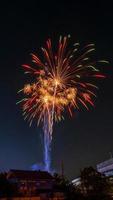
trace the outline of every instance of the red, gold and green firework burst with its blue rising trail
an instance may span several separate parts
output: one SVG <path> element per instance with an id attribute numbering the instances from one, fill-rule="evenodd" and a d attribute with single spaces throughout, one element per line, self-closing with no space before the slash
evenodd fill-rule
<path id="1" fill-rule="evenodd" d="M 24 119 L 31 126 L 34 119 L 43 125 L 45 169 L 50 171 L 51 141 L 53 124 L 62 120 L 64 110 L 72 116 L 72 109 L 79 109 L 81 104 L 88 110 L 93 106 L 95 78 L 104 78 L 97 68 L 99 62 L 92 61 L 90 53 L 94 44 L 88 44 L 79 50 L 79 43 L 68 46 L 69 37 L 60 37 L 58 47 L 53 50 L 48 39 L 45 48 L 41 48 L 43 61 L 38 55 L 31 54 L 33 66 L 22 65 L 25 74 L 31 74 L 33 82 L 26 84 L 19 92 L 24 98 L 22 104 Z M 91 81 L 88 81 L 91 80 Z"/>

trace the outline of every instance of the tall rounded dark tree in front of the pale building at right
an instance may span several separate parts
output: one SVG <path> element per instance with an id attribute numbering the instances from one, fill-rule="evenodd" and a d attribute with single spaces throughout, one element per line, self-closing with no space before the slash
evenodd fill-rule
<path id="1" fill-rule="evenodd" d="M 93 167 L 84 168 L 81 171 L 81 192 L 84 196 L 96 199 L 107 199 L 109 183 L 107 178 L 96 171 Z"/>

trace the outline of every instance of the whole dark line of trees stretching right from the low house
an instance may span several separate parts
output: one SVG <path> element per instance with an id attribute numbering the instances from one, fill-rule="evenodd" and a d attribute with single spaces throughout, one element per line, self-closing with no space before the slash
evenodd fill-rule
<path id="1" fill-rule="evenodd" d="M 80 172 L 80 183 L 75 186 L 59 176 L 56 182 L 66 194 L 67 200 L 112 200 L 113 178 L 105 177 L 93 167 L 87 167 Z"/>

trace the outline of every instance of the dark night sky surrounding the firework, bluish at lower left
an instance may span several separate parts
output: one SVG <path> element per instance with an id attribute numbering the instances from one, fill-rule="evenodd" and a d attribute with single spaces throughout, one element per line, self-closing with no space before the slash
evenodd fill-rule
<path id="1" fill-rule="evenodd" d="M 113 153 L 113 4 L 23 2 L 0 3 L 0 170 L 29 169 L 42 162 L 42 129 L 29 128 L 16 105 L 26 78 L 21 65 L 48 37 L 56 42 L 59 35 L 71 34 L 73 42 L 95 43 L 96 56 L 110 62 L 104 65 L 107 79 L 99 82 L 95 108 L 77 111 L 72 119 L 66 115 L 54 127 L 52 167 L 60 172 L 63 160 L 65 174 L 74 178 L 83 167 L 95 167 Z"/>

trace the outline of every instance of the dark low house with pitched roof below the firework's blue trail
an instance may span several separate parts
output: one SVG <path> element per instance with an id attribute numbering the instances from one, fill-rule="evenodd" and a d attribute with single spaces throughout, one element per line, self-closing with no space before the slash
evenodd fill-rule
<path id="1" fill-rule="evenodd" d="M 21 195 L 29 196 L 50 193 L 54 179 L 46 171 L 10 170 L 7 179 L 17 185 Z"/>

